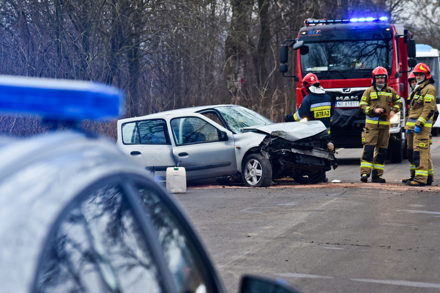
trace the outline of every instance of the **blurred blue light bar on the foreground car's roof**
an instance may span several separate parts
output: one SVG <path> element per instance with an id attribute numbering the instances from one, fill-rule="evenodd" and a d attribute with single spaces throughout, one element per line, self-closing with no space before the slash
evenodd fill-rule
<path id="1" fill-rule="evenodd" d="M 98 83 L 0 76 L 0 111 L 58 121 L 108 121 L 124 111 L 124 93 Z"/>

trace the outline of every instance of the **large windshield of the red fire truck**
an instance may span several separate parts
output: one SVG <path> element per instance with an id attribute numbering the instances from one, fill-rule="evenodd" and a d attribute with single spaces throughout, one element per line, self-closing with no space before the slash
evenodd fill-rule
<path id="1" fill-rule="evenodd" d="M 389 26 L 308 27 L 300 31 L 300 40 L 308 47 L 300 49 L 303 76 L 313 72 L 320 79 L 361 79 L 371 77 L 377 66 L 391 74 L 393 36 Z"/>

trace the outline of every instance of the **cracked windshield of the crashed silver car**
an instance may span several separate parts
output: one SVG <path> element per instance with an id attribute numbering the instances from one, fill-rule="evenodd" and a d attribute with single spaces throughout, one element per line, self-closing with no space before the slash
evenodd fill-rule
<path id="1" fill-rule="evenodd" d="M 216 108 L 221 113 L 227 125 L 235 133 L 243 132 L 240 128 L 272 124 L 265 116 L 241 106 L 221 106 Z"/>

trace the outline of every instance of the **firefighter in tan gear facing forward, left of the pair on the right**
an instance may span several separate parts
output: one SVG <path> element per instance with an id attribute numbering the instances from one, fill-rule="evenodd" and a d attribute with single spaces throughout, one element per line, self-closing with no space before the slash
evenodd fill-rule
<path id="1" fill-rule="evenodd" d="M 372 86 L 365 90 L 359 103 L 366 115 L 362 132 L 361 181 L 367 182 L 371 174 L 371 182 L 385 183 L 382 174 L 388 153 L 390 119 L 400 111 L 403 103 L 386 83 L 388 71 L 385 68 L 376 67 L 372 76 Z"/>

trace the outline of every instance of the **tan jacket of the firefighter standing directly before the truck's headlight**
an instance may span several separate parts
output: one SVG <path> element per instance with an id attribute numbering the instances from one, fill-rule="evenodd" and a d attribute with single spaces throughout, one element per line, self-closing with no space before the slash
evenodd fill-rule
<path id="1" fill-rule="evenodd" d="M 391 110 L 395 113 L 400 112 L 403 103 L 397 92 L 387 86 L 378 90 L 375 86 L 367 88 L 362 94 L 359 108 L 365 113 L 366 128 L 390 128 L 389 115 Z M 382 114 L 376 114 L 375 109 L 384 109 Z"/>

